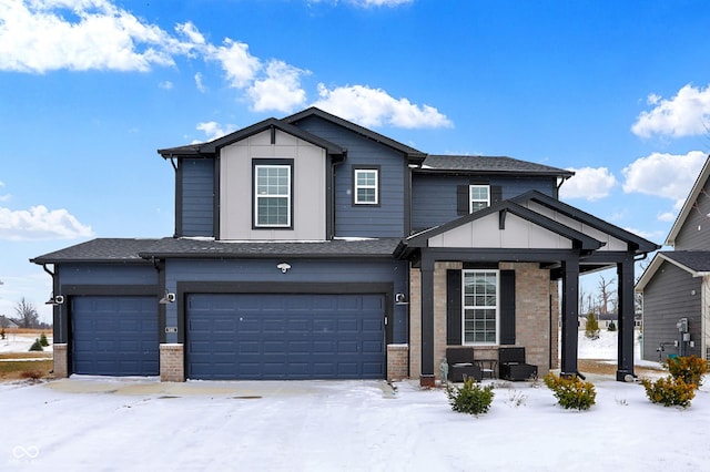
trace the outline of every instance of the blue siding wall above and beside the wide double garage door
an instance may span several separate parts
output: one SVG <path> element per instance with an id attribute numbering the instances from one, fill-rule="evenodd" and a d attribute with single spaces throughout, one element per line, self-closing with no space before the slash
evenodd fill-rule
<path id="1" fill-rule="evenodd" d="M 179 283 L 258 283 L 270 290 L 290 293 L 290 284 L 310 284 L 310 293 L 317 294 L 323 285 L 392 284 L 394 293 L 408 293 L 408 263 L 399 260 L 305 260 L 290 259 L 286 274 L 276 267 L 283 259 L 169 259 L 165 265 L 165 286 L 178 291 Z M 337 288 L 337 287 L 336 287 Z M 394 296 L 393 296 L 394 298 Z M 180 302 L 180 300 L 178 301 Z M 166 326 L 178 326 L 178 304 L 166 305 Z M 393 301 L 394 305 L 394 301 Z M 394 306 L 389 329 L 393 342 L 407 342 L 407 306 Z M 176 342 L 176 335 L 168 335 L 168 342 Z"/>

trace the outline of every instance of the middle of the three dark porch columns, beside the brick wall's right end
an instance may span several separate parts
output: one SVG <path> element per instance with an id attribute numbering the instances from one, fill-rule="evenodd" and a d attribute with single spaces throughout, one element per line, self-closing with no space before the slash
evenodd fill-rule
<path id="1" fill-rule="evenodd" d="M 560 374 L 579 374 L 578 307 L 579 307 L 579 257 L 569 257 L 562 263 L 562 352 Z"/>

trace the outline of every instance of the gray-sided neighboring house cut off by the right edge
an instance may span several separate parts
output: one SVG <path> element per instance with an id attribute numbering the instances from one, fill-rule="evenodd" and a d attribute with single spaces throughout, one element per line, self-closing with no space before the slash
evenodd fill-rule
<path id="1" fill-rule="evenodd" d="M 668 355 L 708 359 L 710 349 L 710 158 L 668 234 L 673 250 L 655 255 L 637 284 L 643 294 L 647 360 Z"/>

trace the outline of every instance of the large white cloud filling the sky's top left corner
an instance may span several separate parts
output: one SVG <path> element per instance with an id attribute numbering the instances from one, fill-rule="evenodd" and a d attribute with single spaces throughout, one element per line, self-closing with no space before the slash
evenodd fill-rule
<path id="1" fill-rule="evenodd" d="M 108 0 L 0 2 L 0 70 L 148 71 L 179 42 Z"/>

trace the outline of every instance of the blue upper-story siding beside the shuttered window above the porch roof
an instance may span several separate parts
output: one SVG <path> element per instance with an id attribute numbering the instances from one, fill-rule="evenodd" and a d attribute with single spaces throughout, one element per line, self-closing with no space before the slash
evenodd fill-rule
<path id="1" fill-rule="evenodd" d="M 554 177 L 500 177 L 415 174 L 412 177 L 412 229 L 423 230 L 456 219 L 458 185 L 481 183 L 500 186 L 503 199 L 536 189 L 556 196 Z"/>

